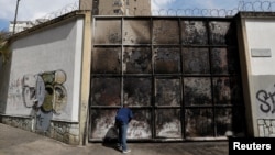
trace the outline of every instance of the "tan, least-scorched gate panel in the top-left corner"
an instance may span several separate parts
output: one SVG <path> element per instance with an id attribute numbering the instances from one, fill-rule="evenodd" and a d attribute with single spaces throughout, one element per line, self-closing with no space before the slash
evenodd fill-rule
<path id="1" fill-rule="evenodd" d="M 95 44 L 121 44 L 120 19 L 98 19 L 95 27 Z"/>

